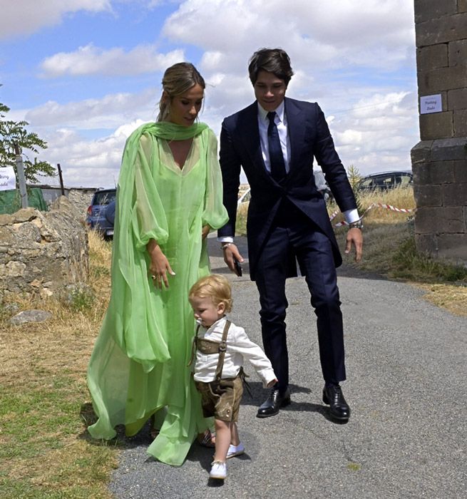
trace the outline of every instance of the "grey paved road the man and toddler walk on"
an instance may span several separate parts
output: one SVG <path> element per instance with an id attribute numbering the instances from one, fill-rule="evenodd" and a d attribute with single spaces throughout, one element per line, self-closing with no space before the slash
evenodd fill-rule
<path id="1" fill-rule="evenodd" d="M 224 273 L 211 245 L 212 271 Z M 142 432 L 128 441 L 113 475 L 115 497 L 467 497 L 467 319 L 399 282 L 344 270 L 339 288 L 349 423 L 333 423 L 322 404 L 309 294 L 304 279 L 289 279 L 292 404 L 273 418 L 256 418 L 266 392 L 250 367 L 253 398 L 245 393 L 239 421 L 247 453 L 229 461 L 224 485 L 207 478 L 209 449 L 195 444 L 185 464 L 173 468 L 148 457 Z M 232 276 L 232 289 L 232 320 L 261 344 L 255 284 Z"/>

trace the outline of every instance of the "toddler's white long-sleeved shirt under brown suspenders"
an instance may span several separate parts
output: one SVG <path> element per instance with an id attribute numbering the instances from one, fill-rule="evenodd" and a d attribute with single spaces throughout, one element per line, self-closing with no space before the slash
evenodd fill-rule
<path id="1" fill-rule="evenodd" d="M 224 331 L 226 317 L 222 317 L 217 322 L 212 324 L 209 329 L 200 326 L 198 337 L 209 339 L 211 341 L 222 341 L 222 333 Z M 276 378 L 270 359 L 260 346 L 248 338 L 245 329 L 235 324 L 230 324 L 227 333 L 227 350 L 225 351 L 224 367 L 222 369 L 222 379 L 235 378 L 243 365 L 244 359 L 250 362 L 255 368 L 255 371 L 262 379 L 264 388 Z M 202 354 L 199 350 L 196 351 L 195 361 L 195 381 L 209 383 L 215 380 L 215 370 L 219 354 Z"/>

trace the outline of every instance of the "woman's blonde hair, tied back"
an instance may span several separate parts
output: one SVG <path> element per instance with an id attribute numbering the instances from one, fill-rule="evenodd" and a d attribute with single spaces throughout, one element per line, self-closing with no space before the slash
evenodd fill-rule
<path id="1" fill-rule="evenodd" d="M 167 119 L 170 113 L 170 101 L 174 97 L 181 96 L 195 85 L 206 88 L 204 78 L 192 63 L 176 63 L 167 68 L 162 78 L 163 96 L 159 101 L 158 121 Z"/>

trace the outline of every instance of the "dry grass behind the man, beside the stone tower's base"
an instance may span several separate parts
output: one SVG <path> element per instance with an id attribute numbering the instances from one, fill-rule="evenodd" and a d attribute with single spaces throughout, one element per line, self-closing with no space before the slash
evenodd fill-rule
<path id="1" fill-rule="evenodd" d="M 378 203 L 406 210 L 414 210 L 414 192 L 411 187 L 398 187 L 387 192 L 366 192 L 358 195 L 359 212 L 364 214 L 364 257 L 349 264 L 366 272 L 384 275 L 389 279 L 403 279 L 426 290 L 425 299 L 458 315 L 467 315 L 467 271 L 447 262 L 435 262 L 417 254 L 414 245 L 414 212 L 404 213 L 374 206 Z M 245 235 L 247 205 L 237 213 L 237 233 Z M 371 208 L 370 208 L 371 207 Z M 370 208 L 370 209 L 369 209 Z M 339 210 L 328 206 L 329 215 Z M 339 213 L 332 221 L 342 221 Z M 341 248 L 345 246 L 347 227 L 335 227 Z M 430 284 L 427 284 L 430 283 Z"/>

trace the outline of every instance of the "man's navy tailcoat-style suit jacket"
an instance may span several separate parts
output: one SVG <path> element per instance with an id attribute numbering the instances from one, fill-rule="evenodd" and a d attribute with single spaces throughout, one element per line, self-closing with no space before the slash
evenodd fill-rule
<path id="1" fill-rule="evenodd" d="M 324 114 L 317 103 L 284 99 L 290 140 L 289 173 L 276 182 L 267 172 L 262 159 L 257 103 L 252 103 L 222 122 L 220 133 L 220 167 L 224 185 L 224 205 L 229 222 L 218 235 L 235 235 L 237 195 L 240 168 L 250 183 L 251 199 L 247 216 L 250 277 L 255 280 L 257 259 L 282 198 L 292 202 L 317 224 L 332 242 L 334 262 L 342 263 L 326 203 L 314 183 L 313 159 L 321 166 L 329 188 L 341 211 L 356 209 L 354 192 L 347 173 L 334 149 L 334 142 Z M 294 255 L 291 255 L 294 260 Z M 296 275 L 291 269 L 289 277 Z"/>

